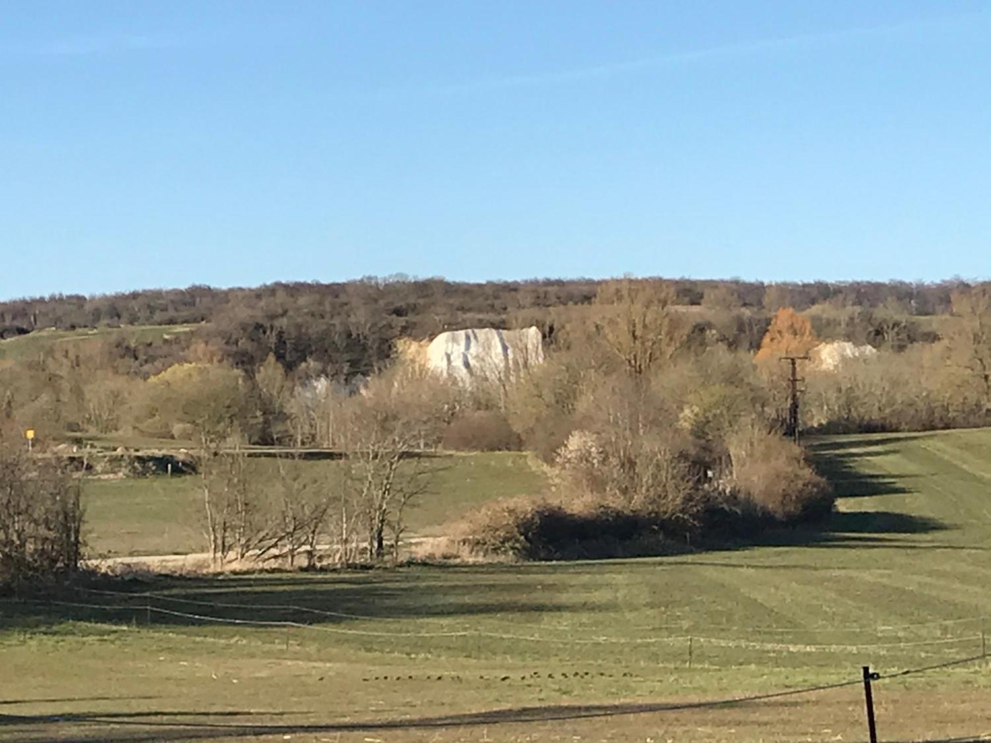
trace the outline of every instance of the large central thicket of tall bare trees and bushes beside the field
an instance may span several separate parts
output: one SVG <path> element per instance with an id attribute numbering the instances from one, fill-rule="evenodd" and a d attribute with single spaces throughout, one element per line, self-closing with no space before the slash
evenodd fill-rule
<path id="1" fill-rule="evenodd" d="M 462 524 L 469 551 L 659 554 L 831 510 L 826 482 L 780 435 L 774 396 L 751 357 L 694 349 L 688 323 L 649 289 L 611 286 L 596 325 L 576 332 L 553 366 L 511 387 L 510 422 L 547 453 L 554 487 Z M 541 427 L 545 420 L 553 427 Z"/>

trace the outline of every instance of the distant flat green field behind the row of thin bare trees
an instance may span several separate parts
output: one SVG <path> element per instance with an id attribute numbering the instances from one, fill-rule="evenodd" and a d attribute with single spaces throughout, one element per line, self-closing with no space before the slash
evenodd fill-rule
<path id="1" fill-rule="evenodd" d="M 275 467 L 272 460 L 258 460 Z M 304 474 L 339 461 L 288 462 Z M 431 458 L 430 491 L 409 510 L 411 535 L 434 536 L 453 518 L 486 500 L 537 493 L 544 477 L 518 452 L 449 454 Z M 203 501 L 195 476 L 91 479 L 83 489 L 87 542 L 96 556 L 168 555 L 206 550 Z"/>

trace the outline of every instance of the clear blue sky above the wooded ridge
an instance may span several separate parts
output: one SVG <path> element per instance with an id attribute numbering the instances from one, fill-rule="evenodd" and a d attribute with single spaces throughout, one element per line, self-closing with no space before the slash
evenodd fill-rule
<path id="1" fill-rule="evenodd" d="M 0 297 L 991 275 L 991 5 L 6 2 Z"/>

